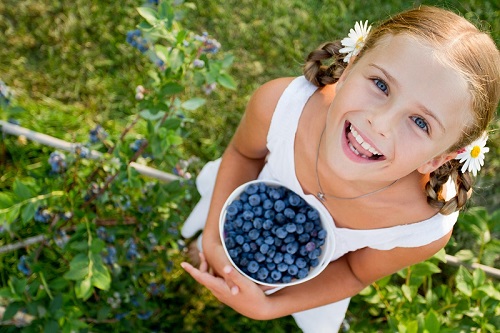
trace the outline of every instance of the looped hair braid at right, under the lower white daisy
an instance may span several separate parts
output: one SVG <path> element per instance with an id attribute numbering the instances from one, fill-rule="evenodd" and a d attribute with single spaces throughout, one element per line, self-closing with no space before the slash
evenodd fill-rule
<path id="1" fill-rule="evenodd" d="M 430 174 L 429 182 L 425 186 L 427 202 L 432 207 L 439 208 L 441 214 L 448 215 L 462 209 L 470 197 L 472 177 L 468 171 L 462 173 L 460 167 L 458 161 L 448 161 Z M 455 183 L 457 195 L 445 201 L 441 191 L 449 177 Z"/>

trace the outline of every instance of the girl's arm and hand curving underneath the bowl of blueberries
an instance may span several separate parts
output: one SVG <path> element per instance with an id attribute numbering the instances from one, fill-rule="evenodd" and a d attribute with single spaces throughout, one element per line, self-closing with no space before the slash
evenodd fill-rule
<path id="1" fill-rule="evenodd" d="M 202 264 L 200 270 L 190 265 L 183 267 L 221 302 L 247 317 L 269 320 L 352 297 L 382 277 L 428 259 L 443 248 L 450 237 L 451 231 L 422 247 L 388 251 L 364 248 L 350 252 L 331 262 L 314 279 L 270 296 L 257 292 L 258 287 L 230 265 L 224 267 L 222 277 L 208 273 L 206 264 Z M 237 286 L 238 292 L 231 285 Z"/>

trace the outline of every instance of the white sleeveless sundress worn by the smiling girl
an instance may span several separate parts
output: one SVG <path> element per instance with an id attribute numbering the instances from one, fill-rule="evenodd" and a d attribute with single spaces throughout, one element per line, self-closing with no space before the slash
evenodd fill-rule
<path id="1" fill-rule="evenodd" d="M 300 116 L 309 98 L 317 87 L 303 76 L 294 79 L 285 89 L 271 120 L 267 136 L 269 154 L 267 162 L 259 174 L 259 179 L 276 180 L 301 195 L 314 208 L 321 210 L 331 219 L 335 241 L 332 261 L 344 254 L 369 247 L 390 250 L 396 247 L 419 247 L 440 239 L 455 225 L 458 212 L 450 215 L 436 214 L 433 217 L 407 225 L 390 228 L 355 230 L 338 228 L 323 204 L 311 194 L 304 194 L 295 174 L 294 140 Z M 205 226 L 215 178 L 220 159 L 207 163 L 196 179 L 201 199 L 184 223 L 181 234 L 193 237 Z M 449 182 L 449 185 L 452 185 Z M 447 186 L 447 197 L 455 196 L 454 186 Z M 201 248 L 201 246 L 200 246 Z M 350 298 L 294 313 L 297 325 L 306 333 L 338 332 L 345 317 Z"/>

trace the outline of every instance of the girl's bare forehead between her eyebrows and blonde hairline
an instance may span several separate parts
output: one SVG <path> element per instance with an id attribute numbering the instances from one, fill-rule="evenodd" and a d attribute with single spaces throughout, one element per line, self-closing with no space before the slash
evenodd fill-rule
<path id="1" fill-rule="evenodd" d="M 463 128 L 472 122 L 471 93 L 462 75 L 443 59 L 443 54 L 428 44 L 396 35 L 378 41 L 354 67 L 383 68 L 398 83 L 392 90 L 439 113 L 449 125 Z"/>

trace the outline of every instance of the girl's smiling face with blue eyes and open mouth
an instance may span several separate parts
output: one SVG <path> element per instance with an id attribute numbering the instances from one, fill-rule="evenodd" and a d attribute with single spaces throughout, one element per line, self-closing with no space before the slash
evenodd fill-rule
<path id="1" fill-rule="evenodd" d="M 347 180 L 427 174 L 472 123 L 467 84 L 407 36 L 388 36 L 344 72 L 325 132 L 329 167 Z"/>

